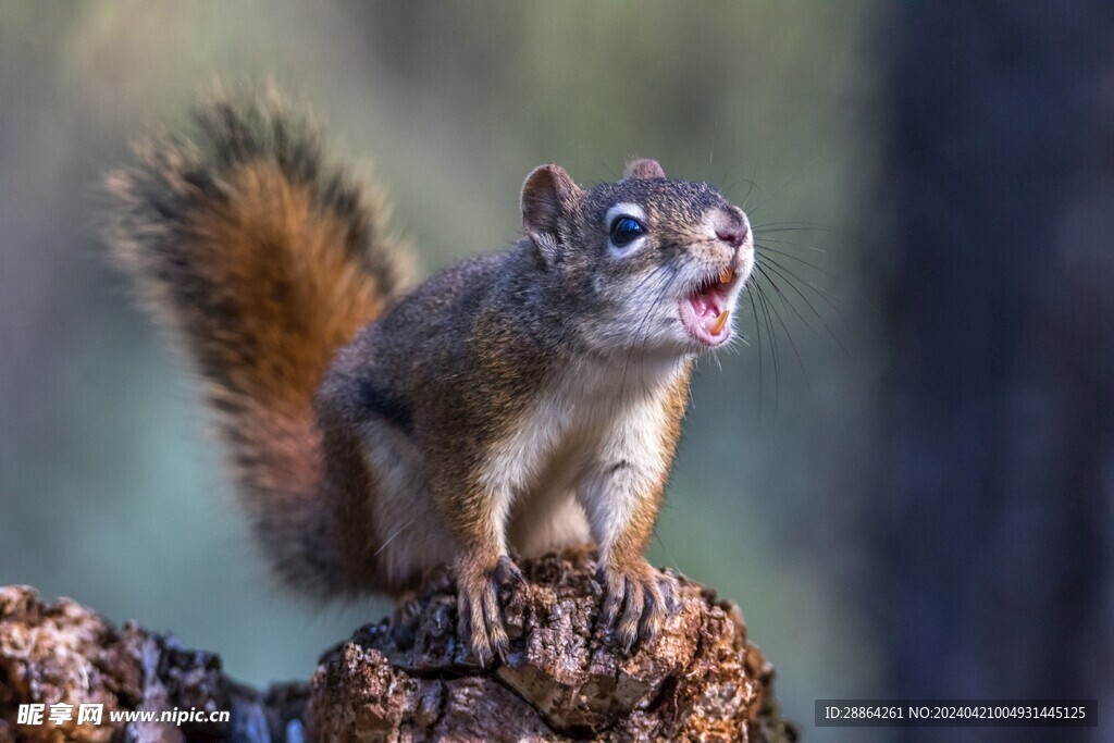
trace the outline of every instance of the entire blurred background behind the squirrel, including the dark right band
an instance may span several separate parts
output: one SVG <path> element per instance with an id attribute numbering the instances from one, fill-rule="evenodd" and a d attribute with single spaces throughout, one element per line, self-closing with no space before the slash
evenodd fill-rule
<path id="1" fill-rule="evenodd" d="M 812 729 L 819 697 L 1108 718 L 1112 39 L 1091 1 L 9 3 L 0 584 L 254 683 L 389 609 L 270 581 L 196 381 L 97 239 L 129 143 L 273 81 L 373 163 L 423 273 L 509 245 L 540 163 L 655 157 L 745 204 L 747 343 L 701 363 L 651 557 L 742 605 L 807 740 L 1057 740 Z"/>

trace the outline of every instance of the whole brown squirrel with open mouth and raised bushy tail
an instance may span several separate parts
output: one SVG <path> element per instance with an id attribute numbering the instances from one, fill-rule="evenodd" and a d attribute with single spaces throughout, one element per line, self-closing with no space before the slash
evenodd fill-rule
<path id="1" fill-rule="evenodd" d="M 108 176 L 110 253 L 205 382 L 273 567 L 319 597 L 438 566 L 460 636 L 505 657 L 512 554 L 594 541 L 629 651 L 674 608 L 644 556 L 694 360 L 732 338 L 750 223 L 651 159 L 521 188 L 522 236 L 411 287 L 379 192 L 274 96 L 219 95 Z"/>

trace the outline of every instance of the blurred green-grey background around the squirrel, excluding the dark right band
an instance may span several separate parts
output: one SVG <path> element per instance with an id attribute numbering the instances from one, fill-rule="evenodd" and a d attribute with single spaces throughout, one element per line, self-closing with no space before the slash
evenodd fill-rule
<path id="1" fill-rule="evenodd" d="M 195 380 L 96 238 L 100 179 L 129 141 L 180 123 L 217 79 L 273 81 L 325 118 L 334 157 L 371 164 L 422 273 L 508 246 L 540 163 L 586 184 L 655 157 L 745 202 L 780 270 L 759 280 L 765 312 L 744 303 L 749 344 L 701 363 L 651 557 L 741 604 L 805 727 L 818 697 L 892 691 L 889 599 L 862 599 L 895 348 L 876 228 L 896 120 L 881 6 L 127 0 L 3 13 L 0 584 L 173 630 L 257 684 L 306 678 L 322 649 L 389 610 L 309 605 L 270 581 Z M 850 740 L 810 731 L 836 739 Z"/>

